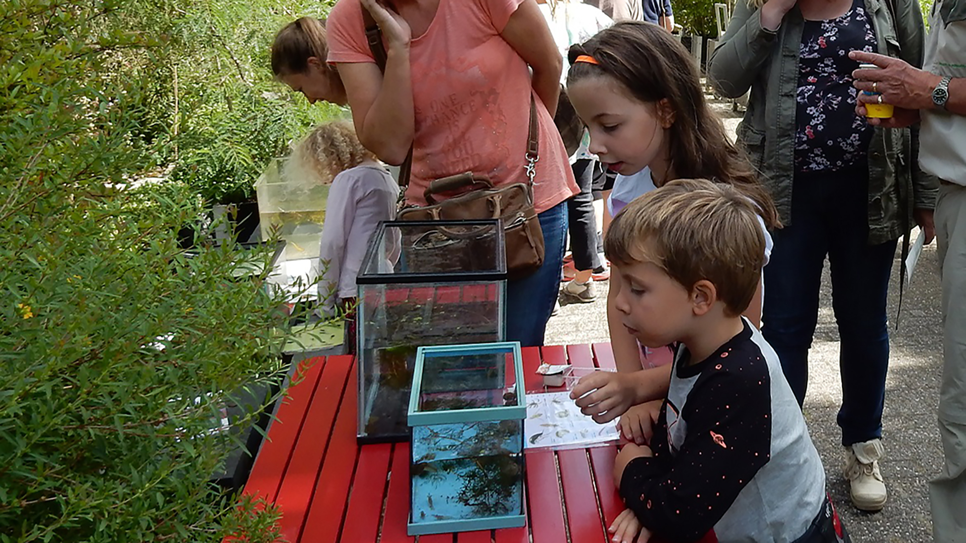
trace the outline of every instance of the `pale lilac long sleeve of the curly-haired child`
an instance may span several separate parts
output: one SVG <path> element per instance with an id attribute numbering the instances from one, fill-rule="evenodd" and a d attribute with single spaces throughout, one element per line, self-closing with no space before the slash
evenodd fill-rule
<path id="1" fill-rule="evenodd" d="M 350 172 L 346 170 L 335 176 L 328 189 L 326 221 L 319 244 L 319 270 L 322 275 L 318 284 L 319 306 L 328 316 L 335 314 L 343 255 L 355 217 L 355 180 Z"/>

